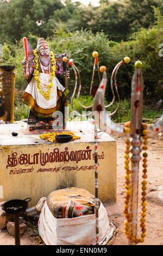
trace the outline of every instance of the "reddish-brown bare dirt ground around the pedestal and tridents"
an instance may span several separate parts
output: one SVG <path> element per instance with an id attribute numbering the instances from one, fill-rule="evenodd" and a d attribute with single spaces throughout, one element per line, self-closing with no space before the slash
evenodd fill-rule
<path id="1" fill-rule="evenodd" d="M 124 197 L 125 197 L 125 182 L 124 182 L 124 138 L 115 138 L 117 141 L 117 201 L 116 203 L 104 203 L 108 211 L 109 220 L 118 227 L 118 233 L 114 245 L 128 245 L 128 240 L 123 231 L 124 226 Z M 149 139 L 148 143 L 148 178 L 147 190 L 148 193 L 157 190 L 163 185 L 163 137 Z M 140 164 L 142 166 L 142 164 Z M 140 168 L 140 185 L 139 198 L 141 198 L 141 173 Z M 139 220 L 141 213 L 141 202 L 139 201 Z M 142 245 L 163 245 L 163 205 L 157 202 L 153 203 L 147 200 L 147 216 L 146 216 L 146 237 Z M 23 236 L 21 236 L 21 245 L 39 245 L 42 242 L 37 239 L 38 234 L 28 225 L 28 228 Z M 138 236 L 141 234 L 138 225 Z M 8 234 L 6 229 L 0 231 L 0 245 L 14 245 L 15 239 Z"/>

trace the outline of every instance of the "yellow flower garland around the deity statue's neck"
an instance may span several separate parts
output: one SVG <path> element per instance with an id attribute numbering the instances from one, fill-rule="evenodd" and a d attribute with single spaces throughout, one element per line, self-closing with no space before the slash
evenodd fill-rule
<path id="1" fill-rule="evenodd" d="M 51 51 L 51 73 L 50 73 L 50 79 L 49 79 L 49 84 L 48 84 L 48 90 L 45 92 L 41 89 L 41 83 L 40 83 L 40 79 L 39 79 L 39 58 L 37 55 L 37 50 L 34 50 L 34 63 L 35 63 L 35 67 L 34 67 L 34 77 L 36 80 L 36 88 L 37 90 L 39 90 L 39 92 L 45 97 L 46 100 L 50 100 L 51 99 L 51 91 L 52 91 L 52 86 L 53 86 L 53 79 L 55 76 L 55 57 L 54 57 L 54 53 Z"/>

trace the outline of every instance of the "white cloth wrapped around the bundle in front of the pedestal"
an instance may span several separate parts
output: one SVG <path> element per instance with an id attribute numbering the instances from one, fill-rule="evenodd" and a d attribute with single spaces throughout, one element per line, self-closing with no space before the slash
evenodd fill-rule
<path id="1" fill-rule="evenodd" d="M 108 214 L 101 203 L 99 215 L 99 245 L 106 245 L 116 227 L 109 223 Z M 46 245 L 96 245 L 95 214 L 75 218 L 55 218 L 45 200 L 39 222 L 39 235 Z"/>

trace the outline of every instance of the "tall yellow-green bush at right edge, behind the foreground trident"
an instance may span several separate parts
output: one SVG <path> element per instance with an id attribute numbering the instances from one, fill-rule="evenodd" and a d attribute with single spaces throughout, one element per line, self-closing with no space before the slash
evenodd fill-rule
<path id="1" fill-rule="evenodd" d="M 159 45 L 163 42 L 163 16 L 160 11 L 154 8 L 156 25 L 151 29 L 141 29 L 140 32 L 133 34 L 133 39 L 128 42 L 121 42 L 112 47 L 112 52 L 118 52 L 118 56 L 124 54 L 131 58 L 131 65 L 126 72 L 121 69 L 119 72 L 120 83 L 123 78 L 127 82 L 127 73 L 129 72 L 130 80 L 134 72 L 134 62 L 140 59 L 143 63 L 142 73 L 144 78 L 144 100 L 146 103 L 156 102 L 163 99 L 163 79 L 162 66 L 163 57 L 159 57 Z M 122 71 L 122 72 L 121 72 Z M 128 77 L 129 77 L 128 76 Z M 121 97 L 130 95 L 130 82 L 120 88 Z M 125 96 L 126 95 L 126 96 Z"/>

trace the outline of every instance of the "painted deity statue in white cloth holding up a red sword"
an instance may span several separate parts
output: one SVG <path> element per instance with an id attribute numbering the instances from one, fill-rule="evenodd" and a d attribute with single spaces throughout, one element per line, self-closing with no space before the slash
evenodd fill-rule
<path id="1" fill-rule="evenodd" d="M 40 38 L 33 50 L 27 38 L 23 38 L 23 74 L 28 86 L 23 93 L 23 102 L 30 108 L 30 130 L 52 129 L 54 112 L 63 112 L 68 94 L 68 55 L 54 54 L 45 39 Z"/>

